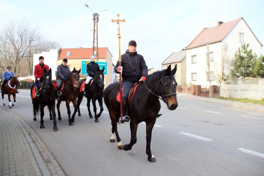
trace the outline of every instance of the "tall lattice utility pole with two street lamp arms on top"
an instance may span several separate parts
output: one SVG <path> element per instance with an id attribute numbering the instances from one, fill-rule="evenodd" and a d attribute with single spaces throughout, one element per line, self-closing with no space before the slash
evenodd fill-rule
<path id="1" fill-rule="evenodd" d="M 98 21 L 99 21 L 99 12 L 107 11 L 101 10 L 99 12 L 94 12 L 87 4 L 84 6 L 88 7 L 92 11 L 92 20 L 93 20 L 93 44 L 92 44 L 92 54 L 95 56 L 96 61 L 98 61 Z"/>

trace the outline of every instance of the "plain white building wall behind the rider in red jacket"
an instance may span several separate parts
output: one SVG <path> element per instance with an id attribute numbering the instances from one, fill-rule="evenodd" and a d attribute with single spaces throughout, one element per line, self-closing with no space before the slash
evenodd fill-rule
<path id="1" fill-rule="evenodd" d="M 35 65 L 39 64 L 39 57 L 44 57 L 44 64 L 48 65 L 52 71 L 52 80 L 56 79 L 55 71 L 57 70 L 57 59 L 58 59 L 58 49 L 50 49 L 47 52 L 41 52 L 41 54 L 34 54 L 33 56 L 33 70 L 35 70 Z M 34 73 L 34 71 L 33 71 Z"/>

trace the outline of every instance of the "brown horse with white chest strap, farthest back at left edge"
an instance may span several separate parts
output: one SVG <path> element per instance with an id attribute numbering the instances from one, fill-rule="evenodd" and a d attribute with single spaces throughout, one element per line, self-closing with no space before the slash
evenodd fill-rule
<path id="1" fill-rule="evenodd" d="M 12 106 L 15 106 L 16 104 L 16 91 L 17 91 L 16 85 L 17 84 L 21 86 L 18 76 L 12 76 L 12 79 L 9 80 L 6 85 L 3 85 L 3 84 L 1 85 L 1 86 L 5 86 L 5 90 L 3 90 L 3 93 L 2 93 L 3 106 L 6 106 L 4 95 L 7 94 L 9 109 L 12 109 Z M 11 106 L 11 95 L 13 95 L 13 99 L 14 99 L 12 106 Z"/>

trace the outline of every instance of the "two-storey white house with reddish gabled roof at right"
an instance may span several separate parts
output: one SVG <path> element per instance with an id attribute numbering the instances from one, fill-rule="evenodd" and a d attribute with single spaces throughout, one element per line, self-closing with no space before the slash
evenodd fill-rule
<path id="1" fill-rule="evenodd" d="M 260 56 L 262 44 L 250 30 L 245 20 L 239 19 L 226 23 L 218 22 L 216 26 L 204 28 L 195 39 L 185 47 L 186 51 L 186 83 L 196 85 L 217 85 L 213 80 L 221 70 L 222 58 L 233 60 L 235 53 L 242 44 L 249 43 L 253 53 Z M 210 65 L 207 62 L 209 52 Z M 210 66 L 210 67 L 209 67 Z"/>

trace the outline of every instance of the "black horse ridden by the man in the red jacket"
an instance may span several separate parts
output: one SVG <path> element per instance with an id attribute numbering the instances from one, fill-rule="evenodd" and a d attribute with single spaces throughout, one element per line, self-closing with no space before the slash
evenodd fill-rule
<path id="1" fill-rule="evenodd" d="M 50 120 L 53 120 L 53 130 L 58 131 L 57 122 L 56 122 L 56 112 L 55 112 L 55 98 L 56 98 L 56 90 L 52 84 L 52 76 L 51 76 L 51 69 L 46 70 L 44 68 L 43 74 L 43 82 L 39 84 L 40 87 L 40 96 L 32 98 L 33 104 L 33 113 L 34 113 L 34 121 L 37 120 L 37 115 L 40 112 L 41 121 L 40 121 L 40 128 L 45 128 L 43 116 L 44 116 L 44 107 L 48 106 L 50 113 Z M 35 89 L 35 83 L 31 85 L 30 96 L 32 96 L 32 91 Z"/>

